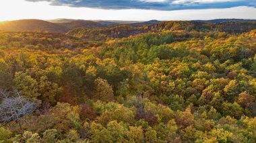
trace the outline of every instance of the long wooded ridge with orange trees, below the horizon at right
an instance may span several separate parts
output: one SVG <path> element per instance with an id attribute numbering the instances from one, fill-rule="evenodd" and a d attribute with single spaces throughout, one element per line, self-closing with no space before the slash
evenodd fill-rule
<path id="1" fill-rule="evenodd" d="M 135 26 L 134 24 L 113 25 L 110 28 L 84 29 L 75 28 L 67 32 L 69 36 L 75 36 L 85 40 L 104 41 L 111 38 L 125 38 L 147 32 L 226 32 L 238 34 L 249 32 L 256 28 L 256 21 L 205 23 L 202 21 L 150 21 L 152 24 Z M 148 22 L 148 23 L 150 23 Z M 135 23 L 137 24 L 137 23 Z M 144 23 L 145 24 L 145 23 Z M 189 35 L 187 35 L 189 36 Z"/>

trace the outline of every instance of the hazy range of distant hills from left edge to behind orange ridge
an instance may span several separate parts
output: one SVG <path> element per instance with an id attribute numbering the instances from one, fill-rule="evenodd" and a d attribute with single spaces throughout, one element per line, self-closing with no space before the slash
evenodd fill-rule
<path id="1" fill-rule="evenodd" d="M 104 29 L 128 24 L 130 26 L 147 26 L 159 21 L 89 21 L 78 19 L 53 19 L 49 21 L 39 19 L 21 19 L 0 22 L 0 30 L 4 31 L 48 31 L 66 33 L 75 28 Z"/>

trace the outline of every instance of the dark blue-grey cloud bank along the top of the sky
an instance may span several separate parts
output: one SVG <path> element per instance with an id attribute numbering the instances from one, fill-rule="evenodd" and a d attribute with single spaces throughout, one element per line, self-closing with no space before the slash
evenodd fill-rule
<path id="1" fill-rule="evenodd" d="M 90 7 L 97 9 L 154 9 L 162 11 L 180 9 L 213 9 L 238 6 L 256 7 L 255 0 L 26 0 L 49 1 L 51 5 Z"/>

